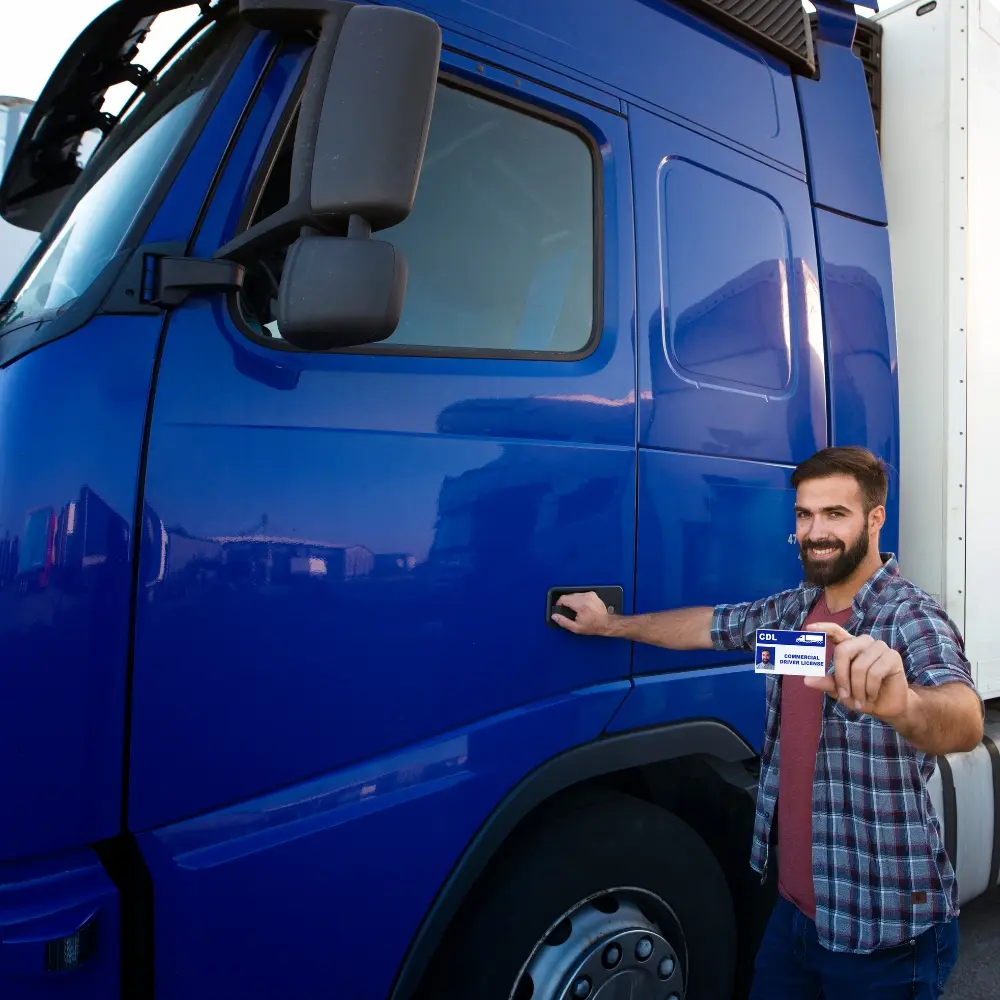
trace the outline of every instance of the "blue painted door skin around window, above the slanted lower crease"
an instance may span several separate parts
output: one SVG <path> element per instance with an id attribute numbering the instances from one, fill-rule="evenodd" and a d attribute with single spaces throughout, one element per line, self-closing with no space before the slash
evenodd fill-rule
<path id="1" fill-rule="evenodd" d="M 600 150 L 604 316 L 588 357 L 293 355 L 248 339 L 221 300 L 174 314 L 145 484 L 155 583 L 136 619 L 133 829 L 628 676 L 626 644 L 574 643 L 545 620 L 552 586 L 617 584 L 632 603 L 628 135 L 518 90 L 588 123 Z M 242 190 L 254 154 L 236 150 L 240 182 L 218 198 Z M 213 208 L 200 245 L 224 242 L 232 217 Z M 294 370 L 286 388 L 255 377 L 271 365 Z"/>

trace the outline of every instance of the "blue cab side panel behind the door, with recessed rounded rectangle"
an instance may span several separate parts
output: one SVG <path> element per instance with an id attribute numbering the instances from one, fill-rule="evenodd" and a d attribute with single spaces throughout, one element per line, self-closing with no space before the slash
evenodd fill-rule
<path id="1" fill-rule="evenodd" d="M 797 135 L 791 77 L 746 59 L 780 90 L 781 134 Z M 801 580 L 789 479 L 827 441 L 808 186 L 644 109 L 629 121 L 642 324 L 636 612 L 756 600 Z M 761 135 L 777 131 L 775 118 Z M 636 690 L 615 728 L 708 715 L 759 746 L 763 683 L 745 661 L 637 646 Z"/>

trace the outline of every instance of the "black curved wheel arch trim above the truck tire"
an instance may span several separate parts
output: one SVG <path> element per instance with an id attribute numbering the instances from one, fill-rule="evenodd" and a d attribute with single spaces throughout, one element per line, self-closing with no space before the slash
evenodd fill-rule
<path id="1" fill-rule="evenodd" d="M 588 781 L 685 757 L 709 761 L 722 780 L 750 791 L 734 768 L 756 753 L 735 730 L 714 719 L 615 733 L 558 754 L 526 775 L 484 821 L 439 890 L 410 943 L 390 1000 L 412 1000 L 452 920 L 525 819 Z"/>

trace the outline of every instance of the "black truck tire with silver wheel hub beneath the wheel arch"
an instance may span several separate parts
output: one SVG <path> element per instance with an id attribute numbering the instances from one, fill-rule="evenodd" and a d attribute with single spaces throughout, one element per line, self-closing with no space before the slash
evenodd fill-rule
<path id="1" fill-rule="evenodd" d="M 722 869 L 676 816 L 617 792 L 515 835 L 425 983 L 435 1000 L 729 1000 Z"/>

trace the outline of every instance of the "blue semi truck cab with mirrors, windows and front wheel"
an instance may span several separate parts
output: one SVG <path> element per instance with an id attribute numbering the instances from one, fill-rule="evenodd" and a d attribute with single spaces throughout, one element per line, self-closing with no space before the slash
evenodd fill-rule
<path id="1" fill-rule="evenodd" d="M 882 28 L 205 0 L 140 65 L 184 6 L 0 187 L 0 996 L 743 995 L 761 681 L 549 608 L 795 585 L 792 467 L 900 468 Z"/>

